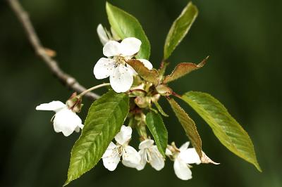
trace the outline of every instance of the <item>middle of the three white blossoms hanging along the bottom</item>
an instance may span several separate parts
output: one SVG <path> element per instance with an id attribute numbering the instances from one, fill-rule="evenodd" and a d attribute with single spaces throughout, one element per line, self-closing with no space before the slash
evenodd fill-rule
<path id="1" fill-rule="evenodd" d="M 144 169 L 148 162 L 157 171 L 164 168 L 164 157 L 159 153 L 157 146 L 154 146 L 154 141 L 146 139 L 139 145 L 139 155 L 141 157 L 140 164 L 137 165 L 137 170 Z"/>

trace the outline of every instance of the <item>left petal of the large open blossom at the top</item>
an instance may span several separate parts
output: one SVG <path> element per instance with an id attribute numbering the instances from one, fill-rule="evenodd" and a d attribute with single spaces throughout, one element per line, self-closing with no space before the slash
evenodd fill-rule
<path id="1" fill-rule="evenodd" d="M 96 79 L 104 79 L 114 72 L 114 60 L 111 58 L 100 58 L 94 66 L 93 73 Z"/>

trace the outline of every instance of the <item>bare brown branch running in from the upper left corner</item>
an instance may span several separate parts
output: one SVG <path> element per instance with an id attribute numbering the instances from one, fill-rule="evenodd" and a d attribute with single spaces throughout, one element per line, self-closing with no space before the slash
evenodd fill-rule
<path id="1" fill-rule="evenodd" d="M 39 58 L 41 58 L 44 61 L 44 63 L 46 63 L 46 65 L 49 67 L 49 70 L 51 70 L 51 72 L 55 75 L 55 77 L 57 77 L 68 88 L 71 88 L 74 91 L 77 91 L 78 93 L 85 91 L 86 89 L 84 86 L 80 85 L 78 81 L 75 80 L 74 77 L 71 77 L 71 75 L 68 75 L 66 74 L 66 72 L 63 72 L 63 70 L 61 70 L 58 63 L 56 62 L 56 60 L 48 56 L 46 49 L 44 48 L 44 46 L 42 46 L 39 38 L 37 37 L 37 34 L 35 32 L 34 27 L 32 26 L 29 16 L 27 15 L 27 12 L 20 5 L 19 1 L 18 0 L 7 0 L 7 1 L 10 4 L 12 10 L 16 13 L 18 20 L 20 20 L 20 23 L 23 25 L 23 28 L 25 29 L 30 44 L 32 44 L 33 48 L 35 49 L 35 52 L 37 53 Z M 85 96 L 92 100 L 99 98 L 99 95 L 92 92 L 85 94 Z"/>

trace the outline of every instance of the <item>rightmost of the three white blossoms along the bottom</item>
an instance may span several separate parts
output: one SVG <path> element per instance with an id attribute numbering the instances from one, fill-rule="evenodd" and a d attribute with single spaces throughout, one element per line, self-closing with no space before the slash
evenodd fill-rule
<path id="1" fill-rule="evenodd" d="M 174 155 L 174 172 L 179 179 L 189 180 L 192 179 L 192 172 L 190 170 L 190 164 L 201 163 L 200 157 L 197 154 L 195 148 L 188 148 L 189 142 L 186 142 L 179 148 L 179 152 Z M 171 156 L 171 150 L 166 149 L 166 155 Z"/>

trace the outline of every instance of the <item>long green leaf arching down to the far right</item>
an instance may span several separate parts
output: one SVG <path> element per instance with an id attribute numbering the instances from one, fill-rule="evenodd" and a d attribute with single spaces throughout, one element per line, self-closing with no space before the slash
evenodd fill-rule
<path id="1" fill-rule="evenodd" d="M 208 93 L 189 91 L 182 96 L 182 99 L 212 127 L 215 136 L 228 150 L 262 171 L 250 136 L 216 98 Z"/>

